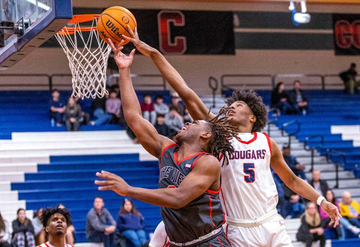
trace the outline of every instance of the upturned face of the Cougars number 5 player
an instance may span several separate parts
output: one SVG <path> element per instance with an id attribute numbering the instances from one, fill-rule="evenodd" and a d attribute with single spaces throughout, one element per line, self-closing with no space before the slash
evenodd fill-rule
<path id="1" fill-rule="evenodd" d="M 229 106 L 226 116 L 230 119 L 229 124 L 233 126 L 244 125 L 245 123 L 251 124 L 256 121 L 250 107 L 241 100 L 235 101 Z"/>

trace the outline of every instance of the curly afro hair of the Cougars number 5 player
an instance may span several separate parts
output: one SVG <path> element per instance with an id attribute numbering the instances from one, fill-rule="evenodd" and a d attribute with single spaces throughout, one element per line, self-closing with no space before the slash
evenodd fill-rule
<path id="1" fill-rule="evenodd" d="M 244 101 L 256 116 L 251 132 L 261 132 L 267 123 L 267 108 L 262 97 L 259 96 L 254 90 L 236 90 L 233 95 L 225 99 L 225 103 L 230 106 L 235 101 Z"/>

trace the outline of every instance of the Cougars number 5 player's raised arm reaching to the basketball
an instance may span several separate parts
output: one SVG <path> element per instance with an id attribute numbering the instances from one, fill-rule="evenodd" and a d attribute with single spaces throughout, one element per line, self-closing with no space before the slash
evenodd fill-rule
<path id="1" fill-rule="evenodd" d="M 153 47 L 145 44 L 143 41 L 139 39 L 138 31 L 135 27 L 135 33 L 132 32 L 130 26 L 127 26 L 127 30 L 129 31 L 131 37 L 127 37 L 123 35 L 126 40 L 129 40 L 134 43 L 136 49 L 140 51 L 142 54 L 149 56 L 161 75 L 165 78 L 165 80 L 170 84 L 172 88 L 179 94 L 181 100 L 184 102 L 186 109 L 188 109 L 191 117 L 194 120 L 204 120 L 207 116 L 208 109 L 201 101 L 199 96 L 188 87 L 185 83 L 183 77 L 176 71 L 174 67 L 165 59 L 165 57 Z M 214 114 L 210 114 L 209 118 L 214 118 Z"/>

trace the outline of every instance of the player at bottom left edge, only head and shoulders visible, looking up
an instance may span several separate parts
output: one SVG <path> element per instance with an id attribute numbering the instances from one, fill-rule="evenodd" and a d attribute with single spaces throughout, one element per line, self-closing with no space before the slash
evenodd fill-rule
<path id="1" fill-rule="evenodd" d="M 42 210 L 41 222 L 49 241 L 37 247 L 73 247 L 65 243 L 67 227 L 71 225 L 71 215 L 68 209 L 48 207 Z"/>

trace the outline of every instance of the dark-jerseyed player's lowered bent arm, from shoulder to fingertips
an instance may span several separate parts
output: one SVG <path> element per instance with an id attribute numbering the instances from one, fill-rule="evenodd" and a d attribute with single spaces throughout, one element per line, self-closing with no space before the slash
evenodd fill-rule
<path id="1" fill-rule="evenodd" d="M 194 169 L 187 175 L 177 188 L 144 189 L 129 186 L 121 177 L 102 171 L 96 176 L 106 180 L 95 180 L 101 185 L 100 191 L 113 190 L 121 196 L 129 196 L 153 205 L 179 209 L 195 198 L 202 195 L 207 189 L 217 191 L 220 188 L 220 164 L 211 155 L 199 158 Z"/>

